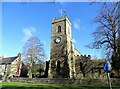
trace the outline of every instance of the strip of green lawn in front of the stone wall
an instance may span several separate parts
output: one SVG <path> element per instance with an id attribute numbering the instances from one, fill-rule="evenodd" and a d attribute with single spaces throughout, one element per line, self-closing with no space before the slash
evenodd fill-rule
<path id="1" fill-rule="evenodd" d="M 115 89 L 120 89 L 120 86 L 113 86 Z M 75 85 L 75 84 L 31 84 L 21 82 L 3 82 L 3 89 L 108 89 L 103 85 Z"/>

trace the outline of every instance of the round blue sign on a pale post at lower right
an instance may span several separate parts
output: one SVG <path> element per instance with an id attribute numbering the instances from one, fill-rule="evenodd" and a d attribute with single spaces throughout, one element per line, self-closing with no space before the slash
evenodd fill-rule
<path id="1" fill-rule="evenodd" d="M 109 88 L 112 89 L 111 80 L 110 80 L 110 73 L 109 73 L 109 71 L 111 70 L 110 62 L 109 61 L 104 62 L 103 68 L 104 68 L 104 72 L 106 72 L 107 76 L 108 76 Z"/>

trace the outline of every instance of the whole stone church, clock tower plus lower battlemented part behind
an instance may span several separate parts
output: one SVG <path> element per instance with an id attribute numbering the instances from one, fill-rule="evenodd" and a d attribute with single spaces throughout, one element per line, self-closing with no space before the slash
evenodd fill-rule
<path id="1" fill-rule="evenodd" d="M 83 60 L 91 65 L 90 55 L 82 56 L 82 54 L 74 47 L 74 43 L 72 41 L 71 22 L 69 18 L 67 16 L 54 18 L 52 20 L 50 66 L 48 77 L 79 77 L 81 76 L 80 71 L 83 67 Z M 86 65 L 86 67 L 90 68 L 89 65 Z"/>

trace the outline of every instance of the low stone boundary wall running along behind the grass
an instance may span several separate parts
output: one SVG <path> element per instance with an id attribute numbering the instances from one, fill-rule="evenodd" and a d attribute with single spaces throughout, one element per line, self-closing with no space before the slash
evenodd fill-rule
<path id="1" fill-rule="evenodd" d="M 28 82 L 36 84 L 94 84 L 94 85 L 107 85 L 107 79 L 56 79 L 56 78 L 12 78 L 11 82 Z M 114 85 L 120 85 L 119 79 L 111 79 L 111 83 Z"/>

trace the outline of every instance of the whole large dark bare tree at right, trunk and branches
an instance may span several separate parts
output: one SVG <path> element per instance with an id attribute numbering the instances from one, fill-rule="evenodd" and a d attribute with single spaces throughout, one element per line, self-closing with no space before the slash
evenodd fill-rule
<path id="1" fill-rule="evenodd" d="M 99 11 L 99 15 L 94 19 L 98 23 L 98 28 L 92 36 L 94 42 L 90 48 L 100 49 L 104 48 L 105 53 L 109 58 L 112 56 L 112 65 L 114 69 L 120 68 L 120 13 L 119 3 L 105 3 L 104 7 Z"/>

